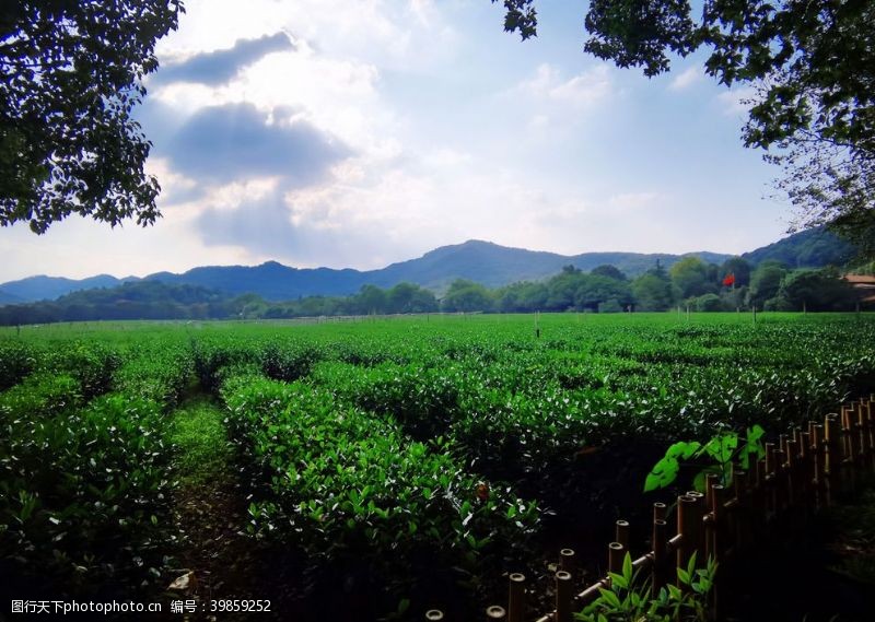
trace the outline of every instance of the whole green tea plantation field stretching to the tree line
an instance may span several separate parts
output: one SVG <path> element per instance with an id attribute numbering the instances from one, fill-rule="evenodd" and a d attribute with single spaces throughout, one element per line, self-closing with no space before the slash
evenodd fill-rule
<path id="1" fill-rule="evenodd" d="M 538 329 L 440 315 L 3 329 L 3 599 L 209 586 L 271 599 L 278 619 L 465 611 L 502 573 L 537 575 L 550 547 L 585 550 L 646 506 L 644 474 L 674 441 L 778 434 L 875 389 L 866 315 L 562 314 Z M 167 594 L 188 571 L 201 589 Z"/>

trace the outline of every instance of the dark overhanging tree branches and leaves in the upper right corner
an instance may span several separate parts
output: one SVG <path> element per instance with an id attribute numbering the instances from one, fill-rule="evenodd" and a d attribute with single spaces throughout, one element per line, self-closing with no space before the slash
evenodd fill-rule
<path id="1" fill-rule="evenodd" d="M 497 0 L 492 0 L 495 2 Z M 537 33 L 534 0 L 504 0 L 504 28 Z M 591 0 L 584 49 L 648 77 L 708 48 L 707 73 L 756 94 L 745 145 L 770 149 L 800 225 L 854 232 L 875 254 L 875 2 Z"/>

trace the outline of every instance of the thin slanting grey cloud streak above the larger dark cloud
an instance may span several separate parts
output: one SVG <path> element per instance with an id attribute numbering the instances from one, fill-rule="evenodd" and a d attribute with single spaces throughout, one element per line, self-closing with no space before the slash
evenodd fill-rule
<path id="1" fill-rule="evenodd" d="M 272 51 L 295 49 L 288 35 L 277 33 L 257 39 L 240 39 L 234 47 L 192 56 L 182 62 L 162 64 L 152 77 L 153 84 L 199 82 L 218 85 L 230 81 L 246 66 Z"/>

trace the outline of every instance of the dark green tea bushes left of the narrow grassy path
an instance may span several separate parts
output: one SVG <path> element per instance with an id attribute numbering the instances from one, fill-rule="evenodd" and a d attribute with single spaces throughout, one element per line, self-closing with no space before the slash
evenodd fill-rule
<path id="1" fill-rule="evenodd" d="M 36 372 L 0 394 L 0 564 L 33 578 L 24 583 L 37 594 L 44 584 L 86 596 L 121 583 L 129 596 L 163 564 L 165 415 L 137 396 L 94 397 L 106 384 L 102 359 L 57 356 L 84 362 L 79 377 Z"/>

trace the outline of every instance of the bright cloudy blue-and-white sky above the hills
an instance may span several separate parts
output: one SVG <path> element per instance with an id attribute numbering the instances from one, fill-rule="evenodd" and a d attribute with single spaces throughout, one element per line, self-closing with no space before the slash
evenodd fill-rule
<path id="1" fill-rule="evenodd" d="M 782 237 L 745 87 L 703 56 L 648 79 L 583 52 L 584 2 L 536 39 L 489 0 L 187 0 L 136 112 L 163 218 L 0 228 L 0 282 L 276 260 L 382 268 L 486 239 L 565 255 L 740 254 Z"/>

